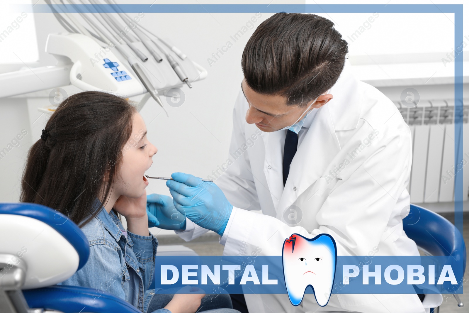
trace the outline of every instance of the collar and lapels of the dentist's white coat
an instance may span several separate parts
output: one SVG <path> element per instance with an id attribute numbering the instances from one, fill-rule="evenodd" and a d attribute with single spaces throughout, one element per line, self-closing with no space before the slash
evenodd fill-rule
<path id="1" fill-rule="evenodd" d="M 273 204 L 278 207 L 277 212 L 283 212 L 303 191 L 317 181 L 330 161 L 340 151 L 335 131 L 352 130 L 357 127 L 361 113 L 359 83 L 346 62 L 337 83 L 331 88 L 330 93 L 334 98 L 324 106 L 314 109 L 306 117 L 303 127 L 310 129 L 292 160 L 285 187 L 281 168 L 275 171 L 267 169 L 271 164 L 281 167 L 281 146 L 285 141 L 285 131 L 262 133 L 265 145 L 264 173 Z M 318 183 L 318 188 L 325 182 L 320 183 Z"/>

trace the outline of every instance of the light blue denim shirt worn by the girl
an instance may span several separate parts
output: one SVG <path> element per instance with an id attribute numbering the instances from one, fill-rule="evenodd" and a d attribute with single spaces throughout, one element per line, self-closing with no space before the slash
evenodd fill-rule
<path id="1" fill-rule="evenodd" d="M 90 258 L 86 264 L 59 285 L 95 288 L 109 292 L 146 313 L 154 289 L 151 285 L 155 269 L 158 240 L 136 235 L 124 229 L 117 215 L 104 207 L 82 228 L 90 244 Z M 170 313 L 159 309 L 153 313 Z"/>

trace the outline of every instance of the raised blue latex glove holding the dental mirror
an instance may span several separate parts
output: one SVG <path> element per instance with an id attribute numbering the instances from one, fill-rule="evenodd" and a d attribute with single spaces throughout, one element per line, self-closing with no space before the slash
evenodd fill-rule
<path id="1" fill-rule="evenodd" d="M 233 206 L 223 191 L 211 182 L 184 173 L 166 181 L 176 209 L 197 225 L 223 236 Z"/>

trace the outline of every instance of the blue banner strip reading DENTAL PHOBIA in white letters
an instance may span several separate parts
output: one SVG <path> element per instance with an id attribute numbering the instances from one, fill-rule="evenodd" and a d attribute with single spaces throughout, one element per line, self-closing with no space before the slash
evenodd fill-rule
<path id="1" fill-rule="evenodd" d="M 452 256 L 337 256 L 331 293 L 462 293 L 456 264 Z M 313 281 L 295 288 L 313 293 Z M 157 292 L 186 285 L 211 294 L 287 293 L 281 256 L 156 257 Z"/>

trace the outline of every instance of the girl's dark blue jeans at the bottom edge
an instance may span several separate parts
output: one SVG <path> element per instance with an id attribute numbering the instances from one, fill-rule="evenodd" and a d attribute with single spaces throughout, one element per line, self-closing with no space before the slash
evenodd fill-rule
<path id="1" fill-rule="evenodd" d="M 161 290 L 160 292 L 168 292 L 169 290 Z M 148 305 L 147 313 L 164 308 L 173 298 L 174 294 L 155 293 Z M 229 294 L 207 294 L 202 298 L 197 312 L 206 313 L 239 313 L 233 309 Z"/>

